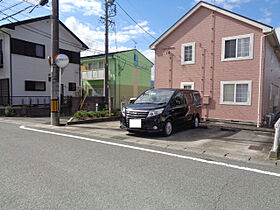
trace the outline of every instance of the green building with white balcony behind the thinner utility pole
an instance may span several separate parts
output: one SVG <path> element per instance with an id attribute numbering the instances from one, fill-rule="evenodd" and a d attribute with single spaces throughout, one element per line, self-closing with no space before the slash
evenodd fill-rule
<path id="1" fill-rule="evenodd" d="M 109 53 L 109 86 L 113 108 L 151 88 L 153 63 L 138 50 Z M 81 58 L 82 85 L 88 96 L 104 95 L 105 55 Z"/>

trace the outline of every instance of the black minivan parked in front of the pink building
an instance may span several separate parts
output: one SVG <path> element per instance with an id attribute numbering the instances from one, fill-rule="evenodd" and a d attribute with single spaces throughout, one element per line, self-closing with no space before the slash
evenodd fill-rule
<path id="1" fill-rule="evenodd" d="M 169 136 L 176 125 L 199 126 L 200 94 L 187 89 L 150 89 L 122 108 L 121 128 L 129 132 L 163 132 Z"/>

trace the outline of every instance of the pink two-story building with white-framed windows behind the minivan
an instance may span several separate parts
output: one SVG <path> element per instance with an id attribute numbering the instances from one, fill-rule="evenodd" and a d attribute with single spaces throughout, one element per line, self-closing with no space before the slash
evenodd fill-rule
<path id="1" fill-rule="evenodd" d="M 199 90 L 204 119 L 259 126 L 280 111 L 280 45 L 271 26 L 199 2 L 150 48 L 155 88 Z"/>

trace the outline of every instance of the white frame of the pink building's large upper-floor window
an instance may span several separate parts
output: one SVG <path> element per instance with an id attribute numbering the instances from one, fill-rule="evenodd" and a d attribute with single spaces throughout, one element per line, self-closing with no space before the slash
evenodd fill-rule
<path id="1" fill-rule="evenodd" d="M 243 38 L 250 38 L 250 44 L 249 44 L 249 56 L 245 57 L 237 57 L 238 56 L 238 39 Z M 225 45 L 226 41 L 228 40 L 236 40 L 236 52 L 235 52 L 235 58 L 225 58 Z M 250 60 L 253 59 L 254 56 L 254 34 L 244 34 L 239 36 L 232 36 L 232 37 L 224 37 L 222 38 L 222 55 L 221 55 L 221 61 L 236 61 L 236 60 Z"/>

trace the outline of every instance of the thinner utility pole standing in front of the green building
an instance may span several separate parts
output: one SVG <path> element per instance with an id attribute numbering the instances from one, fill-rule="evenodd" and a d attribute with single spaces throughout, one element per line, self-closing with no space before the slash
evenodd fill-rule
<path id="1" fill-rule="evenodd" d="M 108 31 L 109 26 L 115 24 L 109 18 L 116 16 L 116 5 L 114 4 L 115 0 L 105 0 L 105 17 L 101 17 L 105 23 L 105 78 L 104 78 L 104 91 L 105 91 L 105 105 L 106 108 L 108 106 L 109 113 L 112 111 L 112 103 L 111 103 L 111 96 L 110 96 L 110 86 L 109 86 L 109 38 L 108 38 Z"/>

